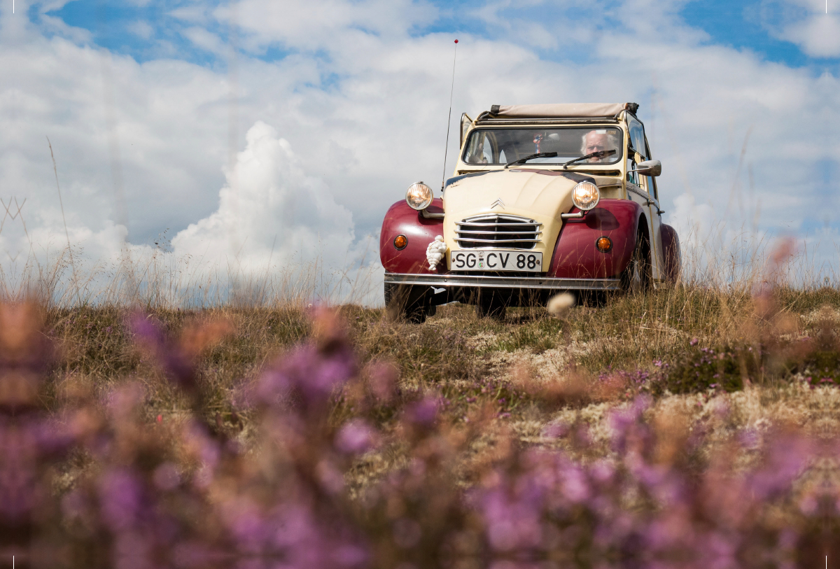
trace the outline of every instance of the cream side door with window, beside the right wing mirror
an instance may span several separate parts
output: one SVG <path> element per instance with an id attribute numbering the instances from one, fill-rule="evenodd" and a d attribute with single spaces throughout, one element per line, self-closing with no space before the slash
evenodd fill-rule
<path id="1" fill-rule="evenodd" d="M 648 218 L 650 236 L 650 258 L 654 279 L 664 278 L 664 257 L 662 252 L 662 213 L 657 199 L 656 183 L 651 176 L 639 176 L 635 170 L 639 162 L 650 159 L 648 141 L 644 127 L 633 117 L 627 117 L 632 149 L 627 150 L 627 197 L 636 201 Z"/>

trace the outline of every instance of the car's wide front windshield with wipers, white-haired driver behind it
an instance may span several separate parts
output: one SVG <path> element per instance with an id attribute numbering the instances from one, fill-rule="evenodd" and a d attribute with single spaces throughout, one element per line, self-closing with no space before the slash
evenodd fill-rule
<path id="1" fill-rule="evenodd" d="M 477 128 L 467 139 L 463 159 L 466 164 L 504 165 L 531 154 L 556 152 L 557 156 L 531 159 L 528 164 L 564 164 L 600 150 L 616 152 L 578 164 L 616 164 L 621 160 L 621 128 Z"/>

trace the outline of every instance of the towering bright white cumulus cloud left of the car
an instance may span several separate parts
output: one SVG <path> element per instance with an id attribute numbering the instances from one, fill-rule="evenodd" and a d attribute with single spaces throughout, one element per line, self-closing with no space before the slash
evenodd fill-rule
<path id="1" fill-rule="evenodd" d="M 322 259 L 330 267 L 352 258 L 352 214 L 322 180 L 307 175 L 291 145 L 261 121 L 226 169 L 218 210 L 172 239 L 177 256 L 217 265 L 268 266 Z"/>

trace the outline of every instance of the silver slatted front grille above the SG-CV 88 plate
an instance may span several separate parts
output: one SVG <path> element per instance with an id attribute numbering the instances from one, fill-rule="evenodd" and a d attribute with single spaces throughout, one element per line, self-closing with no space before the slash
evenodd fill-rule
<path id="1" fill-rule="evenodd" d="M 533 249 L 539 243 L 543 224 L 528 217 L 491 213 L 467 217 L 455 226 L 455 242 L 462 249 Z"/>

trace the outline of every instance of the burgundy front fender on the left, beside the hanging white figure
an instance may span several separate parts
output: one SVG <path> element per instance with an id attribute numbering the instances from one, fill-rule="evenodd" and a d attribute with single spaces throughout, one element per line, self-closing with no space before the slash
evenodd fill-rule
<path id="1" fill-rule="evenodd" d="M 444 202 L 440 198 L 428 206 L 429 213 L 443 213 Z M 438 235 L 444 234 L 443 219 L 426 219 L 419 211 L 412 210 L 405 200 L 397 201 L 388 209 L 382 222 L 379 236 L 379 258 L 385 270 L 391 273 L 444 274 L 446 259 L 430 271 L 426 260 L 426 248 Z M 405 235 L 408 244 L 402 250 L 394 247 L 394 238 Z"/>

